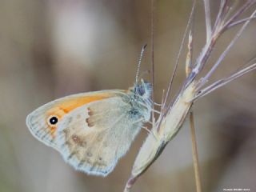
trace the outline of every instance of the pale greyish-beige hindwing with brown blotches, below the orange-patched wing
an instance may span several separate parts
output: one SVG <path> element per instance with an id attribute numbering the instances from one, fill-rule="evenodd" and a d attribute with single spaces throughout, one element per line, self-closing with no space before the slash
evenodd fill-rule
<path id="1" fill-rule="evenodd" d="M 118 96 L 66 114 L 56 134 L 66 162 L 87 174 L 109 174 L 142 126 L 142 117 L 130 114 L 130 108 Z"/>

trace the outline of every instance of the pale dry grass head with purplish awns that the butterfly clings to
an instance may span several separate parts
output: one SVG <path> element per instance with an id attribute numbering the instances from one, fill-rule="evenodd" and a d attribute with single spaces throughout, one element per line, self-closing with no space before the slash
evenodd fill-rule
<path id="1" fill-rule="evenodd" d="M 233 74 L 230 74 L 229 77 L 219 79 L 218 81 L 212 83 L 210 86 L 206 86 L 206 82 L 208 79 L 214 74 L 214 71 L 218 68 L 223 58 L 226 57 L 226 54 L 229 52 L 230 48 L 234 46 L 234 42 L 238 40 L 241 36 L 242 32 L 246 29 L 246 26 L 250 23 L 250 21 L 255 18 L 256 10 L 250 15 L 249 18 L 240 18 L 242 14 L 246 11 L 250 10 L 250 7 L 254 6 L 256 0 L 247 0 L 244 4 L 238 8 L 234 12 L 234 14 L 230 14 L 230 7 L 228 6 L 227 0 L 221 0 L 220 7 L 218 10 L 218 15 L 215 18 L 214 25 L 211 26 L 211 18 L 210 18 L 210 5 L 208 0 L 204 0 L 205 3 L 205 13 L 206 13 L 206 44 L 202 48 L 202 52 L 198 55 L 194 64 L 192 64 L 192 34 L 190 33 L 189 38 L 189 53 L 187 54 L 186 59 L 186 74 L 187 78 L 182 84 L 181 90 L 179 90 L 177 96 L 173 98 L 172 102 L 168 102 L 170 100 L 170 90 L 171 85 L 174 80 L 174 75 L 177 70 L 179 55 L 182 51 L 182 46 L 178 53 L 178 59 L 174 66 L 174 73 L 170 78 L 170 85 L 168 86 L 166 96 L 162 102 L 161 114 L 152 126 L 152 134 L 149 134 L 146 138 L 146 141 L 143 143 L 141 150 L 138 153 L 138 156 L 134 162 L 133 169 L 131 171 L 130 179 L 126 182 L 126 188 L 124 191 L 130 191 L 131 186 L 134 185 L 137 178 L 149 168 L 149 166 L 158 158 L 158 156 L 164 150 L 166 144 L 170 142 L 172 138 L 176 134 L 178 134 L 178 130 L 182 127 L 183 122 L 187 114 L 190 111 L 191 106 L 194 101 L 198 98 L 202 98 L 206 94 L 209 94 L 213 90 L 218 89 L 221 86 L 226 85 L 226 83 L 234 81 L 234 79 L 241 77 L 244 74 L 247 74 L 251 70 L 256 69 L 256 63 L 251 64 L 250 66 L 244 67 L 242 70 L 238 70 Z M 195 1 L 194 1 L 195 5 Z M 194 13 L 194 6 L 192 8 L 188 25 L 186 27 L 186 31 L 190 26 L 190 21 L 192 15 Z M 226 31 L 229 30 L 232 26 L 237 26 L 239 24 L 243 24 L 238 33 L 235 34 L 234 38 L 231 40 L 230 44 L 226 47 L 226 50 L 222 52 L 219 56 L 217 62 L 210 68 L 208 73 L 203 77 L 198 79 L 198 74 L 202 71 L 204 66 L 210 58 L 210 54 L 214 49 L 214 46 L 218 40 L 218 38 Z M 186 33 L 185 33 L 186 34 Z M 206 86 L 206 87 L 204 87 Z M 203 88 L 204 87 L 204 88 Z M 192 135 L 192 138 L 194 136 Z M 195 141 L 194 141 L 195 143 Z M 197 154 L 195 154 L 197 156 Z M 195 160 L 198 163 L 198 160 Z M 198 169 L 198 168 L 197 168 Z M 198 176 L 197 176 L 198 177 Z M 198 182 L 198 178 L 197 178 Z M 200 191 L 200 189 L 198 189 Z"/>

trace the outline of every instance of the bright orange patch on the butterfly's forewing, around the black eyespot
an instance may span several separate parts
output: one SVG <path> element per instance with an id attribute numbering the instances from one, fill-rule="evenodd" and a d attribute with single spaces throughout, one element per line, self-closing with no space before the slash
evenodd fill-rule
<path id="1" fill-rule="evenodd" d="M 50 110 L 48 110 L 46 112 L 46 124 L 48 125 L 49 129 L 50 129 L 50 134 L 52 135 L 52 137 L 55 137 L 55 133 L 56 133 L 56 128 L 57 125 L 49 125 L 47 123 L 47 118 L 50 117 L 50 115 L 54 115 L 58 118 L 58 122 L 60 122 L 60 120 L 62 119 L 62 117 L 65 114 L 68 114 L 71 110 L 74 110 L 76 108 L 78 108 L 79 106 L 83 106 L 86 105 L 90 102 L 97 102 L 100 101 L 102 99 L 105 98 L 110 98 L 113 97 L 114 94 L 113 93 L 96 93 L 96 94 L 91 94 L 88 96 L 78 96 L 78 97 L 74 97 L 74 98 L 66 98 L 66 100 L 64 100 L 63 102 L 59 102 L 56 104 L 56 106 L 54 106 L 53 108 L 51 108 Z"/>

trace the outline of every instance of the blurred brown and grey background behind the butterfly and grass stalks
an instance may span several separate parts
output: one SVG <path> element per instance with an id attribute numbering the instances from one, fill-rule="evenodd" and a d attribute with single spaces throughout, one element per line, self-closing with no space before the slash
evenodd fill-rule
<path id="1" fill-rule="evenodd" d="M 161 102 L 170 78 L 191 4 L 189 0 L 156 1 L 156 102 Z M 211 1 L 212 16 L 218 5 Z M 198 1 L 194 58 L 206 38 L 202 8 Z M 223 34 L 211 64 L 237 30 Z M 255 22 L 251 22 L 211 80 L 225 77 L 255 56 L 255 34 Z M 26 115 L 68 94 L 132 86 L 145 43 L 149 46 L 142 71 L 150 70 L 150 1 L 1 0 L 1 192 L 122 191 L 146 131 L 142 130 L 114 172 L 100 178 L 75 171 L 58 152 L 38 142 L 26 127 Z M 184 59 L 174 90 L 185 77 L 183 63 Z M 149 75 L 143 78 L 150 80 Z M 250 73 L 194 104 L 204 191 L 256 191 L 255 79 L 256 73 Z M 133 191 L 195 191 L 187 122 Z"/>

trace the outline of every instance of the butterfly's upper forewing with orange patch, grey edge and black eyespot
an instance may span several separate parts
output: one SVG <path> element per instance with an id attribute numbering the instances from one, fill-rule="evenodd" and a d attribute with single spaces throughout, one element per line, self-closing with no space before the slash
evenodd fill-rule
<path id="1" fill-rule="evenodd" d="M 59 123 L 62 122 L 62 118 L 66 114 L 90 102 L 112 98 L 122 93 L 124 93 L 123 90 L 105 90 L 59 98 L 53 102 L 46 103 L 46 105 L 39 107 L 29 114 L 26 118 L 26 125 L 35 138 L 38 138 L 39 141 L 45 143 L 47 146 L 59 150 L 55 139 L 56 132 Z M 54 124 L 51 124 L 49 122 L 51 117 L 55 117 L 57 122 L 55 121 Z"/>

